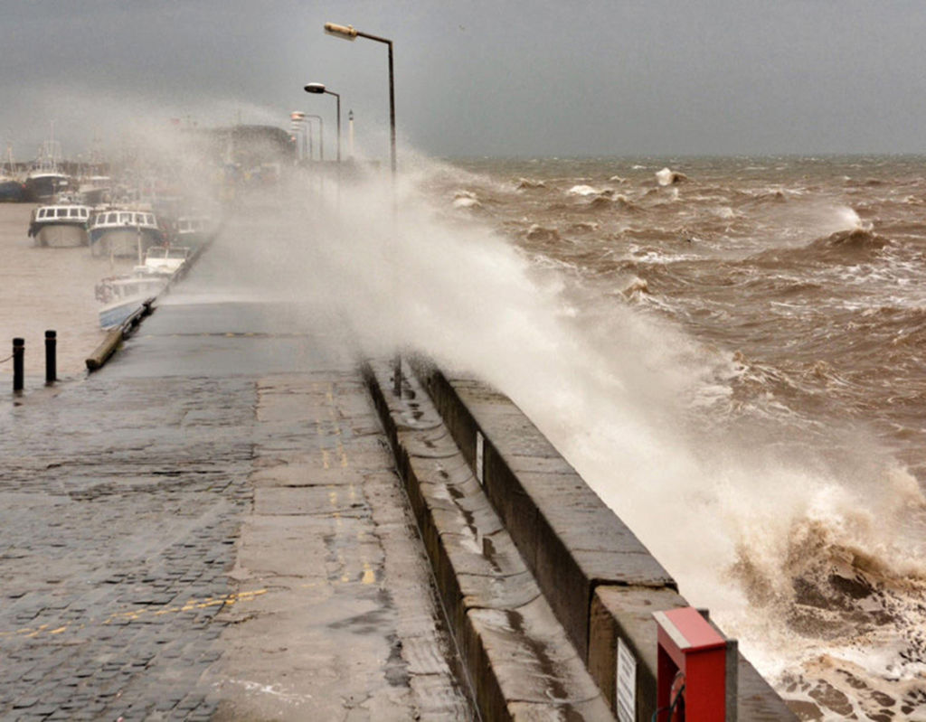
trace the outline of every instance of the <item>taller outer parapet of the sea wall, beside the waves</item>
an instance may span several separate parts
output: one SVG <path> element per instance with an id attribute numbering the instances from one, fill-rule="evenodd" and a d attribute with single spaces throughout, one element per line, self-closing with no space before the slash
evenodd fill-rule
<path id="1" fill-rule="evenodd" d="M 426 359 L 411 365 L 492 501 L 519 553 L 569 633 L 611 709 L 618 641 L 636 661 L 636 715 L 656 703 L 653 612 L 688 606 L 674 579 L 506 396 L 449 379 Z M 740 720 L 795 720 L 737 655 Z"/>

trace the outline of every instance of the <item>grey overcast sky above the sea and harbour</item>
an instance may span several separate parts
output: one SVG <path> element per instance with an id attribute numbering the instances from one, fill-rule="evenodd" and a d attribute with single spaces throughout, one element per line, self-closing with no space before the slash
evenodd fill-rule
<path id="1" fill-rule="evenodd" d="M 320 81 L 383 155 L 385 46 L 326 20 L 394 40 L 400 137 L 434 156 L 926 152 L 924 0 L 0 0 L 0 139 L 332 129 Z"/>

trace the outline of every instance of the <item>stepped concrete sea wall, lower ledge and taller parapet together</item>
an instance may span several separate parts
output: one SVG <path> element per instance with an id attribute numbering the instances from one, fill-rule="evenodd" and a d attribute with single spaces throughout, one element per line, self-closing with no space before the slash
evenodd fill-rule
<path id="1" fill-rule="evenodd" d="M 426 360 L 413 360 L 411 366 L 417 380 L 407 381 L 405 401 L 392 394 L 387 368 L 373 365 L 367 376 L 435 564 L 440 593 L 483 716 L 517 718 L 521 716 L 519 703 L 533 700 L 542 705 L 544 695 L 546 703 L 553 699 L 583 718 L 616 716 L 620 641 L 636 664 L 635 719 L 649 722 L 656 710 L 657 625 L 653 613 L 688 606 L 674 579 L 507 396 L 480 381 L 444 375 Z M 420 389 L 427 391 L 427 399 Z M 422 429 L 430 431 L 421 437 Z M 439 460 L 436 465 L 435 459 Z M 465 491 L 437 489 L 443 483 L 441 475 L 456 477 Z M 427 497 L 434 496 L 435 490 L 429 509 Z M 455 494 L 466 500 L 475 492 L 487 503 L 447 504 Z M 454 507 L 462 509 L 456 528 L 447 526 Z M 473 522 L 476 517 L 482 517 L 482 530 Z M 505 532 L 500 555 L 508 565 L 501 573 L 489 568 L 497 566 L 498 555 L 485 554 L 487 540 L 494 548 L 500 530 Z M 447 551 L 448 544 L 467 547 L 468 539 L 482 542 L 476 545 L 482 547 L 482 561 L 478 560 L 481 554 L 469 554 L 461 563 Z M 504 548 L 505 544 L 512 548 Z M 474 563 L 486 568 L 469 568 L 468 576 L 463 567 Z M 468 589 L 474 580 L 475 593 Z M 494 592 L 486 594 L 499 586 L 505 588 L 501 598 Z M 487 609 L 505 607 L 509 621 L 523 620 L 525 600 L 532 599 L 534 588 L 582 670 L 565 664 L 569 653 L 556 634 L 544 640 L 549 649 L 542 654 L 533 654 L 537 641 L 530 630 L 514 643 L 523 646 L 521 653 L 533 651 L 540 667 L 544 654 L 549 661 L 553 650 L 552 656 L 562 663 L 556 666 L 568 667 L 560 680 L 565 685 L 562 690 L 544 690 L 543 684 L 535 684 L 532 690 L 519 689 L 517 680 L 506 676 L 506 654 L 493 654 L 499 652 L 492 649 L 498 641 L 494 639 L 497 630 L 489 623 L 481 627 L 480 617 Z M 544 613 L 539 613 L 538 620 Z M 544 626 L 543 621 L 537 624 Z M 742 654 L 737 658 L 738 719 L 796 719 Z M 545 669 L 543 674 L 552 672 Z M 594 691 L 588 689 L 586 674 L 594 680 Z M 541 677 L 538 673 L 537 678 Z M 569 693 L 570 684 L 576 693 Z"/>

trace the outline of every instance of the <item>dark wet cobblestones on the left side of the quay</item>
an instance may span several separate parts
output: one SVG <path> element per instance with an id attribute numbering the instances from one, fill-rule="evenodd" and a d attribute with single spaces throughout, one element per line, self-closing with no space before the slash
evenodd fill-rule
<path id="1" fill-rule="evenodd" d="M 0 718 L 212 715 L 254 399 L 100 374 L 0 416 Z"/>

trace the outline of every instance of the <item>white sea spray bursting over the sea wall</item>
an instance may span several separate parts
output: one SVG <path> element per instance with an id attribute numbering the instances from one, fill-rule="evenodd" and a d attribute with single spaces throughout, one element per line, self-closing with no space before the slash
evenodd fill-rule
<path id="1" fill-rule="evenodd" d="M 437 172 L 453 176 L 452 168 Z M 266 243 L 252 243 L 241 259 L 269 264 L 275 293 L 305 313 L 330 307 L 368 353 L 389 354 L 396 343 L 423 350 L 507 392 L 763 671 L 817 674 L 821 649 L 845 662 L 845 644 L 864 650 L 883 634 L 899 649 L 884 675 L 888 665 L 900 668 L 900 652 L 916 653 L 904 625 L 922 620 L 911 590 L 923 554 L 897 529 L 921 516 L 922 502 L 891 454 L 875 441 L 856 450 L 844 442 L 838 456 L 815 451 L 766 381 L 750 381 L 755 401 L 742 404 L 736 386 L 748 369 L 731 351 L 695 342 L 667 314 L 623 301 L 619 289 L 603 294 L 548 270 L 555 264 L 540 268 L 487 221 L 449 220 L 454 193 L 423 190 L 432 177 L 425 161 L 405 169 L 395 217 L 388 179 L 345 186 L 340 197 L 330 187 L 324 196 L 300 189 L 298 213 L 283 222 L 289 211 L 277 211 L 260 235 Z M 803 243 L 857 225 L 857 214 L 841 209 L 848 206 L 790 199 L 782 207 L 795 211 L 792 226 L 776 222 Z M 764 212 L 744 208 L 737 213 Z M 647 295 L 662 294 L 647 285 Z M 763 409 L 774 413 L 762 417 Z M 773 443 L 763 433 L 770 423 L 778 424 Z M 827 433 L 845 430 L 833 424 Z M 895 494 L 891 479 L 903 479 L 907 503 L 894 516 L 860 514 L 874 508 L 876 492 Z M 880 525 L 879 515 L 895 521 Z M 866 584 L 877 592 L 862 595 Z M 833 608 L 814 613 L 814 594 Z M 893 626 L 883 611 L 892 606 L 907 610 Z M 845 620 L 858 615 L 869 621 L 852 636 Z M 827 629 L 843 630 L 845 643 Z M 868 674 L 859 683 L 877 686 Z M 812 678 L 795 684 L 796 696 L 813 690 Z"/>

